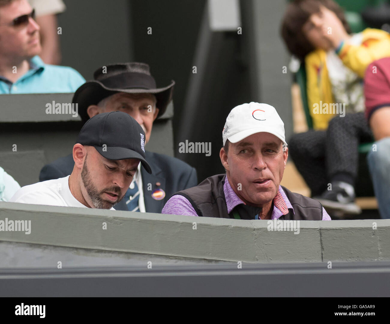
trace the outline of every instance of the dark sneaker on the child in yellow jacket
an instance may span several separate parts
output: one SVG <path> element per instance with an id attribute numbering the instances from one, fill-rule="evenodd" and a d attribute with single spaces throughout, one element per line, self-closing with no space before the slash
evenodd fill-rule
<path id="1" fill-rule="evenodd" d="M 340 210 L 348 214 L 361 214 L 362 210 L 355 204 L 355 190 L 346 182 L 333 182 L 332 190 L 325 190 L 321 196 L 313 197 L 323 207 Z"/>

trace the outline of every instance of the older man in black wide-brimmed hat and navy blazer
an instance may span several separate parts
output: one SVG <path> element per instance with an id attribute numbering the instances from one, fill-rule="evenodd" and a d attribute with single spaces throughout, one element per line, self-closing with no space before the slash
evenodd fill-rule
<path id="1" fill-rule="evenodd" d="M 149 141 L 153 121 L 161 116 L 172 100 L 175 82 L 158 88 L 145 63 L 125 63 L 103 66 L 94 73 L 94 80 L 80 86 L 73 96 L 84 122 L 97 114 L 122 111 L 132 116 Z M 120 135 L 120 134 L 119 134 Z M 145 150 L 152 174 L 138 169 L 125 198 L 116 210 L 160 213 L 168 198 L 179 190 L 197 185 L 196 170 L 185 162 L 167 155 Z M 59 158 L 41 170 L 40 181 L 67 176 L 72 172 L 73 157 Z"/>

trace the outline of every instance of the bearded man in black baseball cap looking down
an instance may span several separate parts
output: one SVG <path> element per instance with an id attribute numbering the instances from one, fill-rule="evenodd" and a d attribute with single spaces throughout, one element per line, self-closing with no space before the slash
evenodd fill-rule
<path id="1" fill-rule="evenodd" d="M 77 137 L 70 176 L 22 187 L 10 202 L 114 210 L 140 162 L 152 172 L 145 160 L 144 138 L 142 127 L 128 114 L 99 114 Z"/>

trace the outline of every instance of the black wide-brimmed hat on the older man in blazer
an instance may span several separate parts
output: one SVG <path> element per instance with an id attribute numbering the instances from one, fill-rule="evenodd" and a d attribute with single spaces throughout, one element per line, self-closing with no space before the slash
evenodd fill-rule
<path id="1" fill-rule="evenodd" d="M 102 66 L 95 71 L 94 79 L 81 85 L 72 99 L 72 103 L 78 104 L 78 113 L 84 122 L 89 119 L 89 105 L 96 105 L 104 98 L 119 92 L 154 94 L 159 109 L 157 117 L 160 117 L 172 100 L 175 85 L 175 81 L 171 80 L 167 87 L 157 88 L 156 81 L 149 72 L 149 65 L 138 62 Z"/>

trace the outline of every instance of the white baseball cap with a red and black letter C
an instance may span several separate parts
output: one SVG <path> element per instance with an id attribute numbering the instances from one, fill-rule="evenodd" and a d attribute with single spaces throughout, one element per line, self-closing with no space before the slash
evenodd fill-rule
<path id="1" fill-rule="evenodd" d="M 237 143 L 252 134 L 266 132 L 275 135 L 287 146 L 284 123 L 276 109 L 266 103 L 250 102 L 234 107 L 222 130 L 223 146 L 228 139 Z"/>

